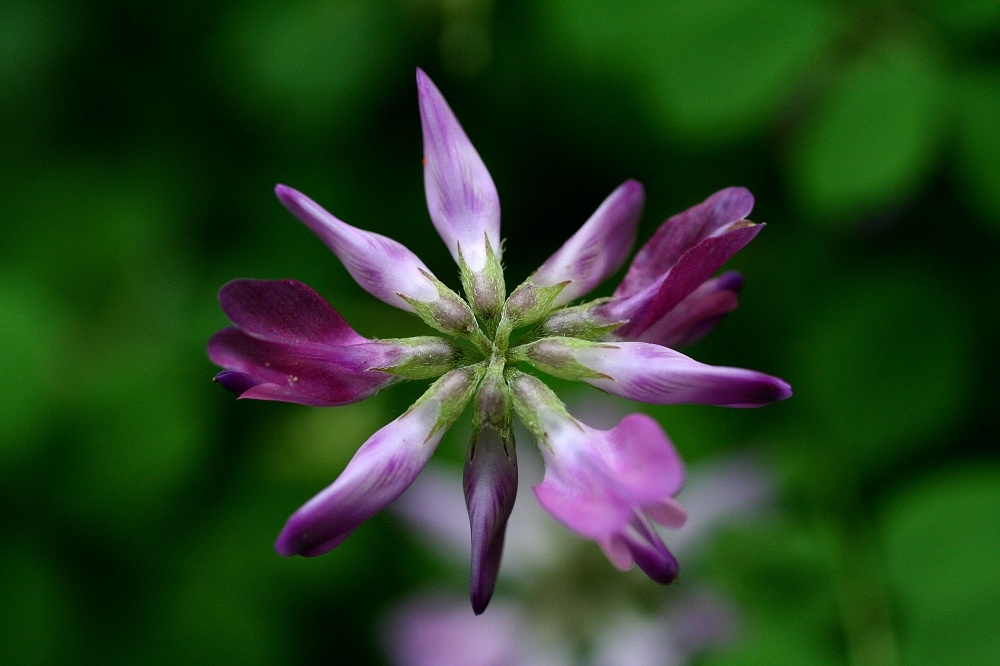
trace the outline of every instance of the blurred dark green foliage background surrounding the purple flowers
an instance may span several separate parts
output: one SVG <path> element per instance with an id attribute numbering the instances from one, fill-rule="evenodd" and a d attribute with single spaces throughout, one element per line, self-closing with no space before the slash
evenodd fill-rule
<path id="1" fill-rule="evenodd" d="M 756 195 L 740 308 L 689 353 L 795 396 L 648 410 L 691 465 L 749 451 L 779 483 L 684 565 L 743 616 L 701 661 L 997 663 L 998 45 L 992 0 L 6 0 L 0 661 L 377 663 L 402 596 L 464 592 L 384 515 L 321 558 L 272 548 L 419 385 L 237 402 L 204 352 L 238 277 L 302 280 L 369 337 L 426 331 L 272 193 L 457 287 L 420 66 L 497 184 L 511 287 L 626 178 L 641 240 Z"/>

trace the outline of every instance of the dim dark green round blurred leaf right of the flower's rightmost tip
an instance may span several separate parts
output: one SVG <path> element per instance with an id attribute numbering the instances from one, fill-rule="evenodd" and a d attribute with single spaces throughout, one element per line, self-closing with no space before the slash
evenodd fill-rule
<path id="1" fill-rule="evenodd" d="M 804 432 L 825 450 L 814 458 L 878 466 L 939 436 L 965 402 L 966 342 L 945 284 L 911 269 L 868 272 L 822 299 L 791 373 Z"/>

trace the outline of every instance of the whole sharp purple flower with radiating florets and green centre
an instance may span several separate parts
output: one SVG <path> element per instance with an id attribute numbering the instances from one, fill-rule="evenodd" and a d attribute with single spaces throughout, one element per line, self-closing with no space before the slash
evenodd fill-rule
<path id="1" fill-rule="evenodd" d="M 545 454 L 546 477 L 536 489 L 545 509 L 596 540 L 615 565 L 634 562 L 654 580 L 673 580 L 677 561 L 651 523 L 683 522 L 672 499 L 680 460 L 666 435 L 638 414 L 608 431 L 588 428 L 514 366 L 655 404 L 748 407 L 788 397 L 780 379 L 705 365 L 664 346 L 697 339 L 736 307 L 739 276 L 712 276 L 760 230 L 744 219 L 753 198 L 730 188 L 667 220 L 611 298 L 569 305 L 627 258 L 644 195 L 639 183 L 626 181 L 508 298 L 493 180 L 420 70 L 417 88 L 427 207 L 458 264 L 464 297 L 400 243 L 337 219 L 290 187 L 275 192 L 361 288 L 461 344 L 437 336 L 367 339 L 294 280 L 236 280 L 219 293 L 233 326 L 209 341 L 208 354 L 224 369 L 216 380 L 240 397 L 335 406 L 401 381 L 438 378 L 289 518 L 278 551 L 318 555 L 340 544 L 406 489 L 472 402 L 465 495 L 477 613 L 493 592 L 516 495 L 515 413 Z M 512 339 L 518 329 L 528 330 Z"/>

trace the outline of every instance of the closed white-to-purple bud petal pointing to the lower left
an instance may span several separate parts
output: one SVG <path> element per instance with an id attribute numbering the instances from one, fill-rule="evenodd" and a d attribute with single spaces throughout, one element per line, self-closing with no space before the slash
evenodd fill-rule
<path id="1" fill-rule="evenodd" d="M 275 548 L 282 555 L 322 555 L 400 496 L 423 469 L 445 428 L 440 403 L 428 400 L 365 442 L 337 480 L 292 514 Z"/>

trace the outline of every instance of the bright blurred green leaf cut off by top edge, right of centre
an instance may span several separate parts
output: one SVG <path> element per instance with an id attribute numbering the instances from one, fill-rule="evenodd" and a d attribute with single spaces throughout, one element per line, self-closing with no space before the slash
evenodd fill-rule
<path id="1" fill-rule="evenodd" d="M 686 0 L 655 26 L 652 117 L 672 136 L 719 144 L 761 133 L 823 56 L 836 18 L 801 0 Z M 654 26 L 648 26 L 647 30 Z"/>

